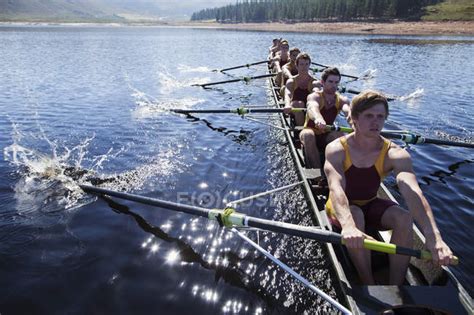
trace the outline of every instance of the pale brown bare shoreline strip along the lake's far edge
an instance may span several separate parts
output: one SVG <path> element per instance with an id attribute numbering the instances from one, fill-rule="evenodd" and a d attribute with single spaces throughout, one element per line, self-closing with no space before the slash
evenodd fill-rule
<path id="1" fill-rule="evenodd" d="M 322 34 L 374 34 L 374 35 L 437 35 L 472 36 L 474 21 L 390 21 L 390 22 L 302 22 L 302 23 L 245 23 L 220 24 L 217 22 L 131 22 L 131 23 L 81 23 L 81 22 L 0 22 L 4 26 L 72 26 L 72 27 L 126 27 L 156 26 L 197 29 L 226 29 L 264 32 L 299 32 Z"/>

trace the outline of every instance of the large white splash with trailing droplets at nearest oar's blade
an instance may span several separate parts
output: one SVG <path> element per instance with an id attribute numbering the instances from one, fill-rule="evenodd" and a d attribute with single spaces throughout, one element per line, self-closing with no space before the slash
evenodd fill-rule
<path id="1" fill-rule="evenodd" d="M 13 143 L 5 147 L 3 153 L 5 161 L 16 168 L 15 174 L 19 176 L 14 191 L 16 209 L 20 214 L 63 211 L 92 201 L 94 198 L 84 194 L 80 184 L 130 191 L 150 184 L 157 175 L 156 181 L 163 183 L 184 167 L 176 159 L 176 154 L 186 149 L 185 144 L 168 145 L 144 165 L 123 173 L 99 174 L 107 162 L 127 152 L 129 147 L 109 148 L 103 154 L 92 155 L 89 147 L 94 135 L 68 147 L 48 139 L 43 133 L 41 139 L 47 143 L 47 149 L 37 150 L 33 147 L 39 147 L 41 143 L 34 133 L 22 132 L 15 123 L 12 123 L 12 129 Z M 34 144 L 23 144 L 28 140 L 35 140 Z"/>

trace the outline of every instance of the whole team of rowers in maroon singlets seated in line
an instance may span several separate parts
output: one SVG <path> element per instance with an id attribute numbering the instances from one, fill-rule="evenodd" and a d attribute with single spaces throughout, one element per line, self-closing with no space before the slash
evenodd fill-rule
<path id="1" fill-rule="evenodd" d="M 311 58 L 288 41 L 274 40 L 270 47 L 271 66 L 284 95 L 285 113 L 303 126 L 299 137 L 307 168 L 320 168 L 319 151 L 325 151 L 324 173 L 329 186 L 326 211 L 336 230 L 341 230 L 352 261 L 365 284 L 375 284 L 368 250 L 363 240 L 371 238 L 366 228 L 392 230 L 391 243 L 413 247 L 413 221 L 426 237 L 426 246 L 437 265 L 454 262 L 443 241 L 433 212 L 424 197 L 412 167 L 410 154 L 380 135 L 389 114 L 387 98 L 376 91 L 362 91 L 349 101 L 337 92 L 341 74 L 327 68 L 316 80 L 309 74 Z M 293 108 L 306 108 L 292 113 Z M 343 135 L 326 132 L 339 112 L 354 132 Z M 385 176 L 393 172 L 408 211 L 391 200 L 377 197 Z M 409 257 L 390 255 L 390 284 L 402 285 Z"/>

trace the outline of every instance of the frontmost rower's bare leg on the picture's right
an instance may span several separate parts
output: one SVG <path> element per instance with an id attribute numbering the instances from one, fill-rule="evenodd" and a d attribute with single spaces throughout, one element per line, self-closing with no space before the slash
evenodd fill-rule
<path id="1" fill-rule="evenodd" d="M 381 219 L 382 226 L 392 230 L 390 243 L 411 248 L 413 246 L 413 217 L 399 206 L 388 208 Z M 410 262 L 405 255 L 390 255 L 390 284 L 402 285 Z"/>

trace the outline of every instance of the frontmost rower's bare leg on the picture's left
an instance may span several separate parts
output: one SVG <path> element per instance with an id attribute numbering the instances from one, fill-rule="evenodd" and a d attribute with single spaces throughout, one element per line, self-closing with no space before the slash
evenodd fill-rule
<path id="1" fill-rule="evenodd" d="M 356 227 L 365 232 L 365 220 L 362 210 L 357 206 L 351 206 L 351 213 Z M 367 249 L 348 248 L 347 251 L 351 256 L 352 262 L 359 273 L 360 280 L 363 284 L 375 284 L 372 275 L 372 262 L 370 259 L 370 251 Z"/>

